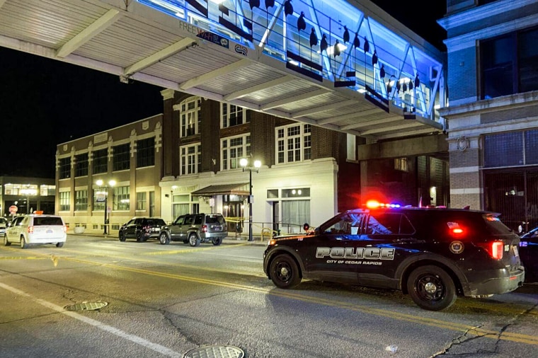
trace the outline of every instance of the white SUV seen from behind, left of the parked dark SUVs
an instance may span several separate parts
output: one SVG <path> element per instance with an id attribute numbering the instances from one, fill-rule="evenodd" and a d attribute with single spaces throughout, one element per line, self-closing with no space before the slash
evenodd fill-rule
<path id="1" fill-rule="evenodd" d="M 4 246 L 18 243 L 21 248 L 28 248 L 33 244 L 53 243 L 61 248 L 66 238 L 67 226 L 61 216 L 30 214 L 11 221 L 4 233 Z"/>

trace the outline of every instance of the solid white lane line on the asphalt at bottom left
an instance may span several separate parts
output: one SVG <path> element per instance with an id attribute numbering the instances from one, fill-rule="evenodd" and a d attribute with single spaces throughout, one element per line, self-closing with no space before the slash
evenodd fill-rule
<path id="1" fill-rule="evenodd" d="M 45 301 L 44 299 L 38 299 L 37 297 L 32 296 L 31 294 L 27 294 L 25 291 L 21 291 L 20 289 L 16 289 L 15 287 L 8 286 L 7 284 L 4 284 L 2 282 L 0 282 L 0 287 L 13 292 L 14 294 L 18 294 L 19 296 L 24 296 L 28 299 L 31 299 L 32 301 L 42 306 L 50 308 L 52 311 L 57 311 L 58 313 L 62 313 L 65 316 L 74 318 L 77 321 L 81 321 L 88 325 L 93 325 L 93 327 L 95 328 L 104 330 L 105 332 L 108 332 L 108 333 L 112 333 L 113 335 L 122 337 L 125 340 L 130 340 L 131 342 L 136 343 L 137 345 L 141 345 L 142 347 L 146 347 L 149 350 L 153 350 L 154 352 L 164 354 L 167 357 L 183 357 L 183 354 L 178 353 L 174 350 L 170 350 L 164 347 L 163 345 L 158 345 L 154 342 L 150 342 L 149 340 L 145 340 L 144 338 L 139 337 L 137 335 L 131 335 L 130 333 L 120 330 L 119 328 L 113 327 L 112 325 L 106 325 L 105 323 L 94 320 L 93 318 L 82 316 L 79 313 L 76 313 L 73 311 L 66 311 L 65 308 L 57 306 L 56 304 L 52 304 L 52 302 Z"/>

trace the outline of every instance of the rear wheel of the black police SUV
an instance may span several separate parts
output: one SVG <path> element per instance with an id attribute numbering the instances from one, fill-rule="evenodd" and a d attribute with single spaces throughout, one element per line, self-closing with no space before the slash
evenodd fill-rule
<path id="1" fill-rule="evenodd" d="M 442 268 L 428 265 L 418 267 L 407 281 L 411 299 L 428 311 L 441 311 L 456 301 L 456 286 L 452 277 Z"/>

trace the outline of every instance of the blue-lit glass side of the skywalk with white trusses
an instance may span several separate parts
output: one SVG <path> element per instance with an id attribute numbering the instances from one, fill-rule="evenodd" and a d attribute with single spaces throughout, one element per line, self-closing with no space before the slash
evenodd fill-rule
<path id="1" fill-rule="evenodd" d="M 444 96 L 440 93 L 442 59 L 343 0 L 137 1 L 247 47 L 258 47 L 314 80 L 328 79 L 360 93 L 374 91 L 374 97 L 425 118 L 435 117 L 434 104 Z M 299 18 L 306 28 L 298 28 Z M 327 47 L 321 51 L 324 35 Z M 313 37 L 316 45 L 311 46 Z"/>

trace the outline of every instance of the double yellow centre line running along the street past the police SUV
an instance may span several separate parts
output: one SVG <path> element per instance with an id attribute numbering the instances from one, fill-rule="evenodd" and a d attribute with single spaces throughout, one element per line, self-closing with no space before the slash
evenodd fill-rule
<path id="1" fill-rule="evenodd" d="M 76 251 L 76 250 L 69 250 L 69 251 L 78 253 L 78 251 Z M 43 254 L 43 255 L 45 255 L 45 254 Z M 103 255 L 100 255 L 100 256 L 103 256 Z M 108 257 L 108 256 L 105 255 L 105 257 Z M 117 258 L 117 256 L 115 256 L 115 258 Z M 369 307 L 369 306 L 360 306 L 360 305 L 356 305 L 356 304 L 349 304 L 349 303 L 347 303 L 345 301 L 334 301 L 332 299 L 322 299 L 322 298 L 304 296 L 302 294 L 294 293 L 291 290 L 281 290 L 281 289 L 277 289 L 277 288 L 274 288 L 274 287 L 271 287 L 271 288 L 267 289 L 267 288 L 262 288 L 262 287 L 246 286 L 244 284 L 234 284 L 234 283 L 231 283 L 231 282 L 218 282 L 218 281 L 214 281 L 212 279 L 203 279 L 203 278 L 200 278 L 200 277 L 189 277 L 189 276 L 184 276 L 184 275 L 168 274 L 166 272 L 157 272 L 157 271 L 151 271 L 151 270 L 144 270 L 144 269 L 139 269 L 139 268 L 136 268 L 136 267 L 126 267 L 126 266 L 108 264 L 108 263 L 91 261 L 91 260 L 82 260 L 82 259 L 78 259 L 78 258 L 64 257 L 62 259 L 63 260 L 69 260 L 71 262 L 79 262 L 79 263 L 83 263 L 83 264 L 86 264 L 86 265 L 98 265 L 98 266 L 101 266 L 101 267 L 110 267 L 110 268 L 113 268 L 113 269 L 116 269 L 116 270 L 136 272 L 136 273 L 141 273 L 141 274 L 144 274 L 144 275 L 165 277 L 165 278 L 170 278 L 170 279 L 179 279 L 179 280 L 187 281 L 187 282 L 210 284 L 212 286 L 227 287 L 227 288 L 231 288 L 231 289 L 241 289 L 241 290 L 244 290 L 244 291 L 257 292 L 257 293 L 261 293 L 261 294 L 270 294 L 270 295 L 273 295 L 273 296 L 280 296 L 280 297 L 287 298 L 287 299 L 296 299 L 296 300 L 304 301 L 304 302 L 308 302 L 308 303 L 322 304 L 324 306 L 333 306 L 333 307 L 336 307 L 336 308 L 343 308 L 343 309 L 349 309 L 351 311 L 368 313 L 368 314 L 372 314 L 372 315 L 375 315 L 375 316 L 383 316 L 383 317 L 387 317 L 387 318 L 393 318 L 393 319 L 396 319 L 396 320 L 399 320 L 399 321 L 406 321 L 406 322 L 411 322 L 411 323 L 418 323 L 418 324 L 421 324 L 421 325 L 428 325 L 428 326 L 435 327 L 435 328 L 444 328 L 444 329 L 448 329 L 448 330 L 454 330 L 454 331 L 457 331 L 457 332 L 467 332 L 467 333 L 470 333 L 471 335 L 483 336 L 483 337 L 488 337 L 488 338 L 492 338 L 492 339 L 496 339 L 496 340 L 509 340 L 509 341 L 512 341 L 512 342 L 521 342 L 521 343 L 525 343 L 525 344 L 529 344 L 529 345 L 538 345 L 538 337 L 534 337 L 533 335 L 524 335 L 524 334 L 520 334 L 520 333 L 507 333 L 507 332 L 499 333 L 498 331 L 495 331 L 495 330 L 485 330 L 485 329 L 481 329 L 481 328 L 476 328 L 475 326 L 465 325 L 465 324 L 462 324 L 462 323 L 452 323 L 452 322 L 447 322 L 447 321 L 440 321 L 440 320 L 437 320 L 435 318 L 424 318 L 424 317 L 419 317 L 419 316 L 413 316 L 413 315 L 406 314 L 406 313 L 399 313 L 399 312 L 395 312 L 395 311 L 387 311 L 387 310 L 384 310 L 382 308 L 372 308 L 372 307 Z M 132 256 L 130 257 L 130 259 L 132 259 Z M 136 258 L 135 260 L 139 260 L 139 258 Z M 151 263 L 155 263 L 154 261 L 150 261 L 150 260 L 139 260 L 139 261 L 142 261 L 142 262 L 148 261 L 148 262 L 151 262 Z M 160 262 L 160 263 L 162 263 L 162 262 Z M 170 264 L 166 264 L 166 265 L 170 265 Z M 174 265 L 174 264 L 172 264 L 172 265 Z M 182 264 L 175 264 L 175 265 L 183 266 Z M 184 265 L 184 266 L 193 267 L 193 268 L 195 268 L 197 270 L 205 268 L 205 267 L 195 267 L 195 266 L 190 266 L 190 265 Z M 219 272 L 229 272 L 229 271 L 224 271 L 224 270 L 207 269 L 207 268 L 205 268 L 205 270 L 219 271 Z M 237 274 L 241 275 L 241 273 L 239 273 L 239 272 L 233 272 L 233 273 L 237 273 Z M 265 277 L 265 275 L 263 275 L 263 277 Z M 522 311 L 517 311 L 517 314 L 521 314 L 521 313 L 523 313 L 523 312 Z"/>

